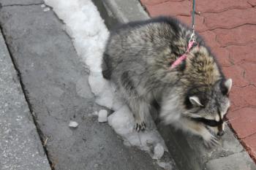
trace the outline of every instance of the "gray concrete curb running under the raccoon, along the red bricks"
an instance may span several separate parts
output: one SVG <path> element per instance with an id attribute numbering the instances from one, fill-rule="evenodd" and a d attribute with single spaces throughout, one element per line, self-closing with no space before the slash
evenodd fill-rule
<path id="1" fill-rule="evenodd" d="M 112 28 L 116 23 L 149 18 L 138 0 L 93 1 L 108 28 Z M 157 126 L 179 169 L 256 169 L 252 158 L 249 157 L 230 128 L 227 128 L 227 133 L 222 137 L 220 146 L 206 150 L 203 142 L 197 136 L 186 135 L 170 126 Z"/>

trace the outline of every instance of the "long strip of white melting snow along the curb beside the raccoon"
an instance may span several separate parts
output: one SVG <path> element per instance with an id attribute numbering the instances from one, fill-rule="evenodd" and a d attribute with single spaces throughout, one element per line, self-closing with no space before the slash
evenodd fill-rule
<path id="1" fill-rule="evenodd" d="M 75 50 L 90 70 L 89 85 L 96 96 L 97 104 L 113 109 L 108 116 L 108 124 L 122 136 L 124 144 L 146 150 L 152 158 L 162 157 L 167 151 L 165 142 L 159 135 L 153 120 L 149 119 L 146 131 L 135 131 L 135 120 L 132 112 L 116 93 L 116 87 L 102 77 L 102 53 L 108 39 L 108 29 L 100 18 L 97 7 L 91 0 L 45 0 L 56 15 L 66 24 L 65 30 L 72 37 Z M 105 117 L 102 111 L 94 112 L 99 119 Z M 107 112 L 108 115 L 108 112 Z M 147 122 L 148 123 L 148 122 Z M 149 127 L 149 128 L 148 128 Z M 161 166 L 170 163 L 160 162 Z M 168 168 L 170 169 L 170 167 Z"/>

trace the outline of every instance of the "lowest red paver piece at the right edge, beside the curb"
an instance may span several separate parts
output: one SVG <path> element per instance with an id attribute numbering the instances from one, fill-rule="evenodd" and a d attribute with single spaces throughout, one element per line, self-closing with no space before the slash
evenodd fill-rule
<path id="1" fill-rule="evenodd" d="M 252 134 L 241 140 L 246 145 L 247 152 L 249 152 L 252 158 L 256 161 L 256 134 Z"/>

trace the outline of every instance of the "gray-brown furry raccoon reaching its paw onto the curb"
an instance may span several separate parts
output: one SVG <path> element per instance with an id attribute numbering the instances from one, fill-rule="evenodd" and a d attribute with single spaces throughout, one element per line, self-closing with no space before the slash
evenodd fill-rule
<path id="1" fill-rule="evenodd" d="M 145 117 L 157 103 L 164 123 L 212 146 L 224 134 L 232 80 L 197 33 L 197 45 L 187 51 L 191 34 L 191 28 L 170 17 L 118 26 L 105 47 L 102 74 L 116 84 L 137 131 L 146 128 Z M 171 68 L 184 54 L 187 58 Z"/>

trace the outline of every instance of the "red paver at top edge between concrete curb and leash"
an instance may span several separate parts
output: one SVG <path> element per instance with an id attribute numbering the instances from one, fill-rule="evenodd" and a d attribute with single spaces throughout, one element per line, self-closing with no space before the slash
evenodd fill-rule
<path id="1" fill-rule="evenodd" d="M 192 12 L 192 3 L 190 1 L 166 1 L 155 5 L 146 4 L 146 9 L 151 17 L 159 15 L 190 16 Z"/>

